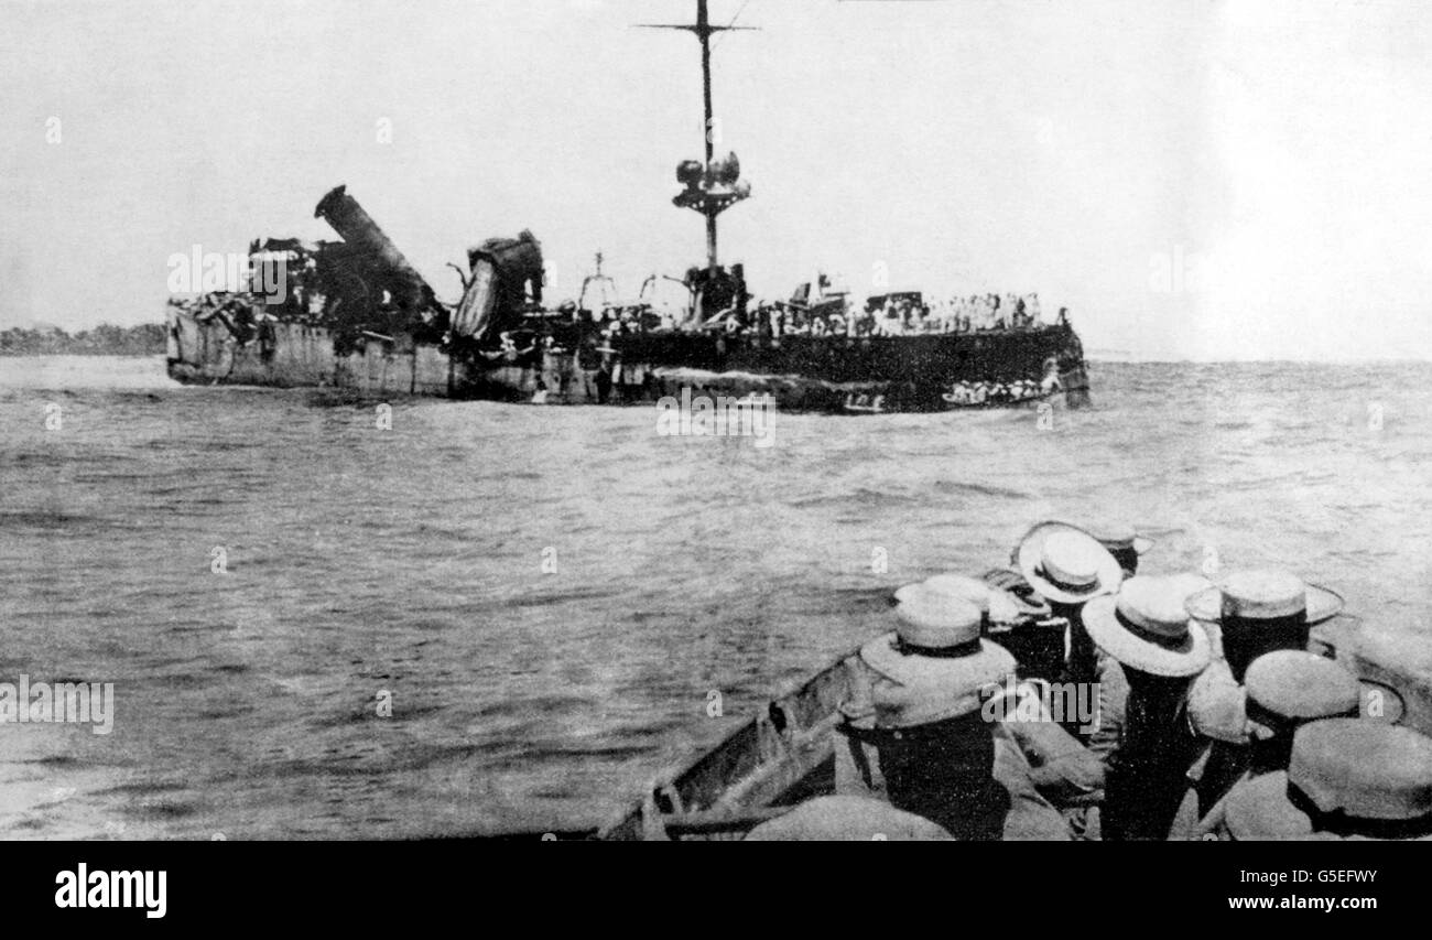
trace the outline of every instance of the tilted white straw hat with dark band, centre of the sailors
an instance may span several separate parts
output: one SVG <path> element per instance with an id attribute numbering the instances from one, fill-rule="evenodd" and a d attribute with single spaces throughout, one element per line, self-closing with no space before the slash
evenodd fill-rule
<path id="1" fill-rule="evenodd" d="M 1084 629 L 1120 663 L 1157 676 L 1193 676 L 1209 665 L 1209 636 L 1189 620 L 1171 577 L 1134 576 L 1117 596 L 1084 606 Z"/>

